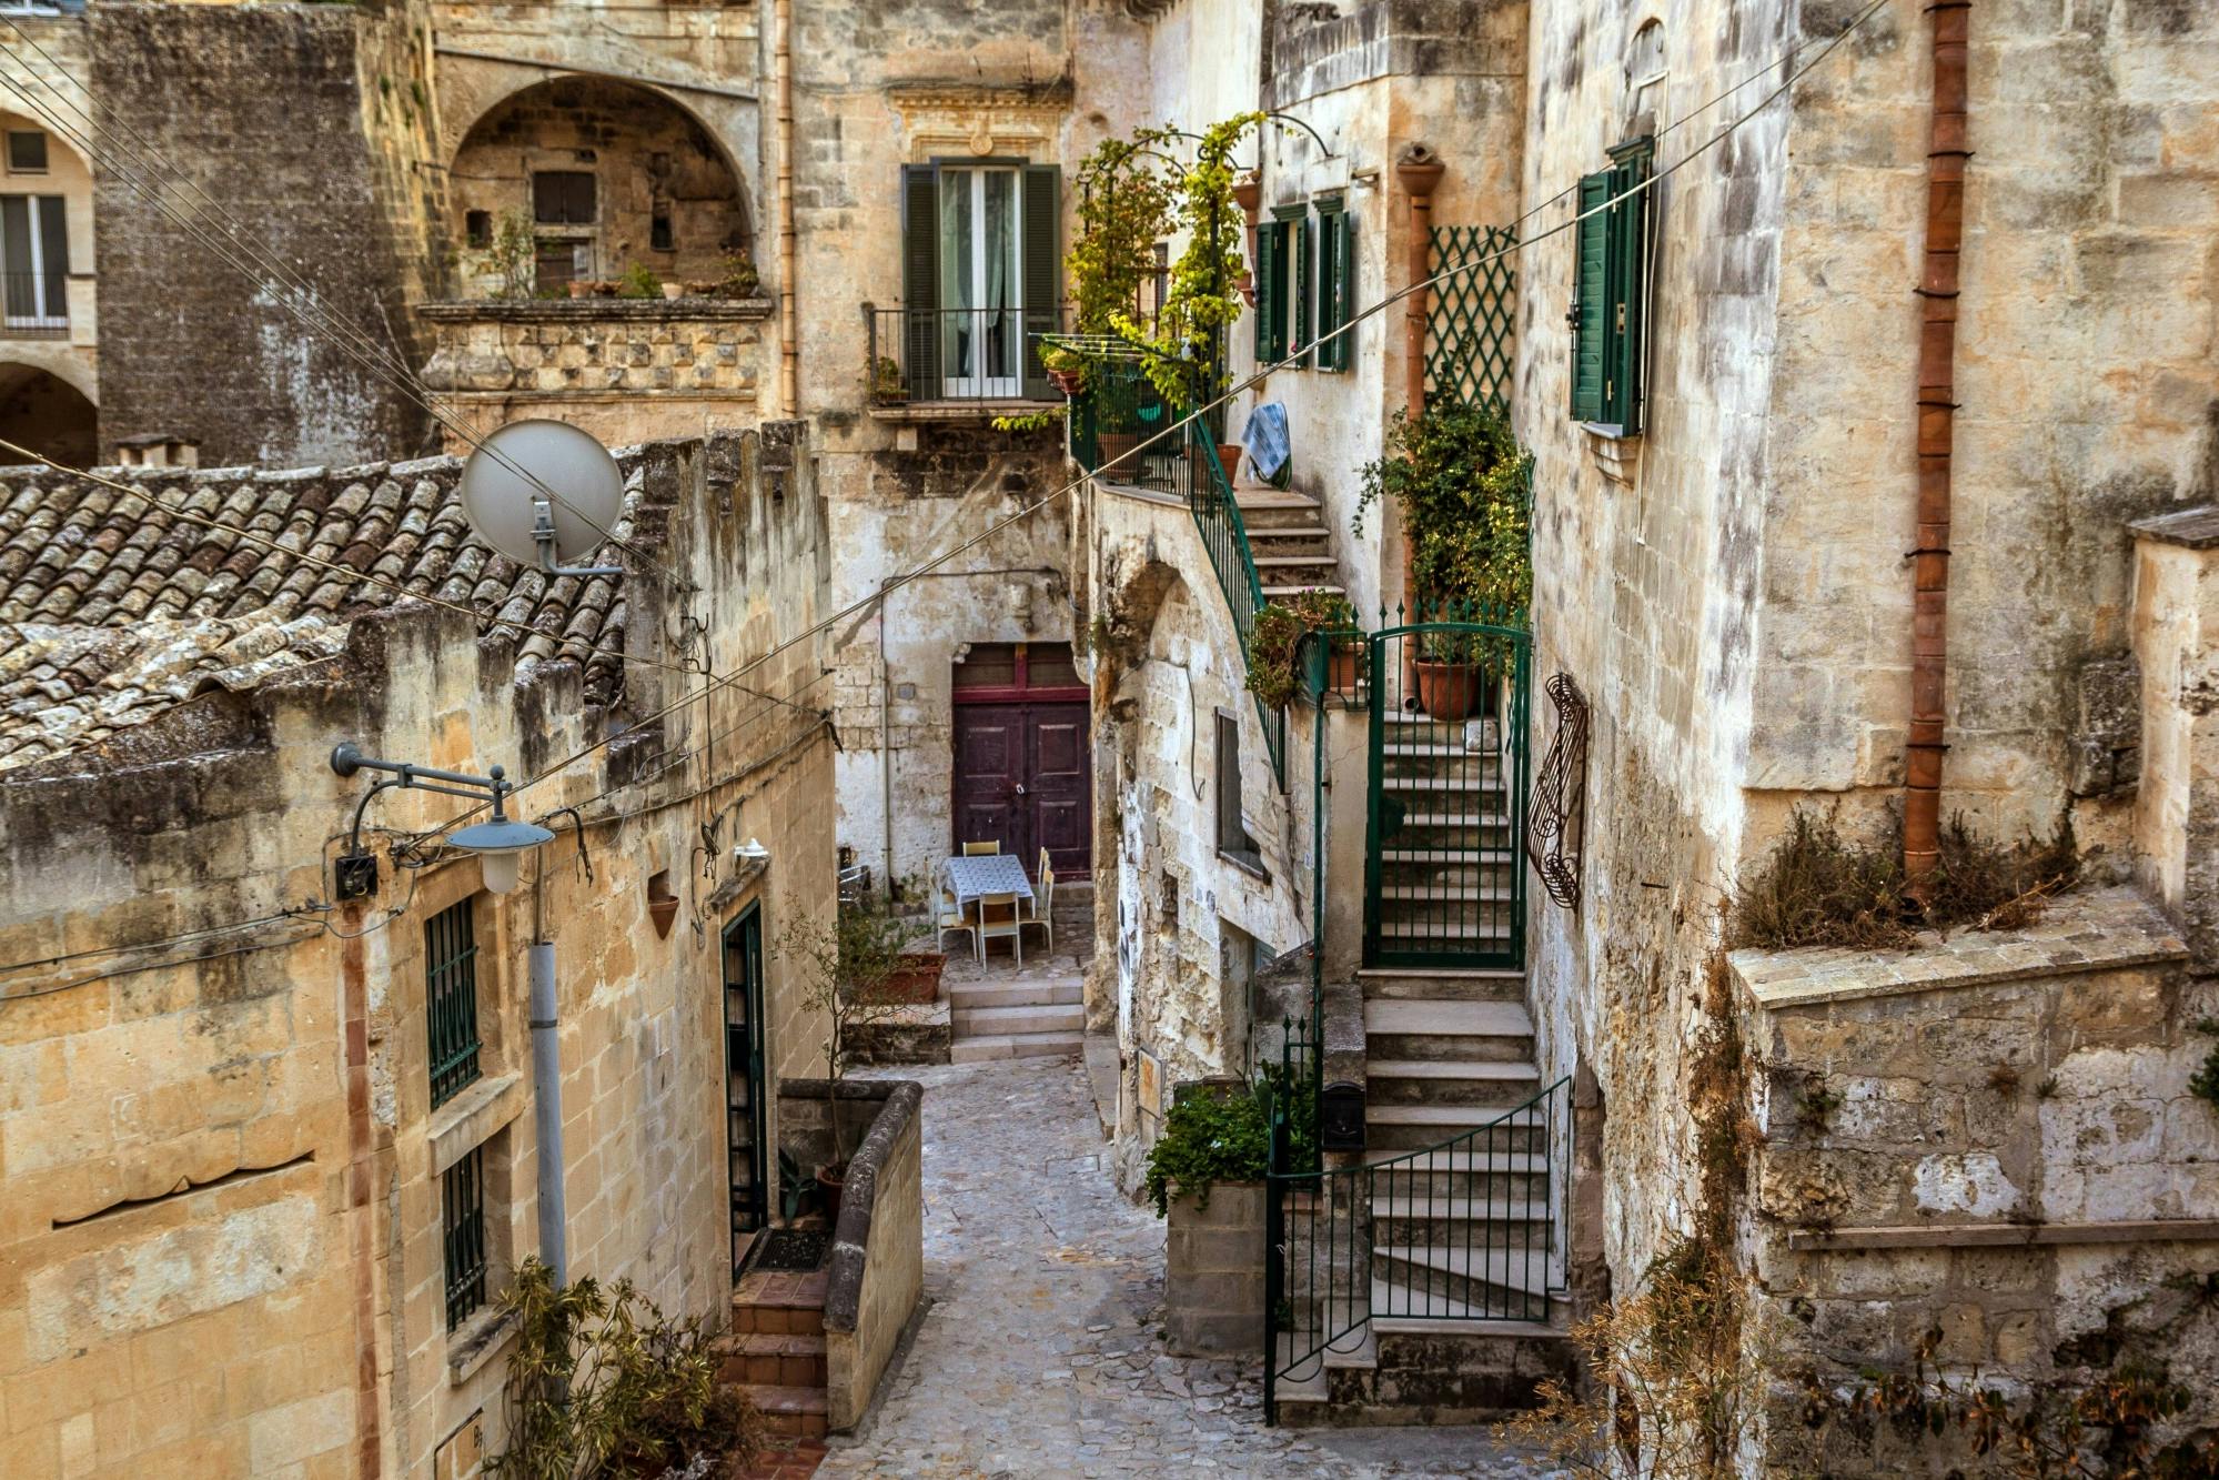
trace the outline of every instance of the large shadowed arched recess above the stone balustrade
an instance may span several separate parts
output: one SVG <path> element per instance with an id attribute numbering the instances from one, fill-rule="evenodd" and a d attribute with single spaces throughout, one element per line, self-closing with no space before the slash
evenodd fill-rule
<path id="1" fill-rule="evenodd" d="M 646 268 L 719 282 L 752 260 L 748 200 L 708 129 L 661 93 L 555 78 L 486 111 L 455 151 L 464 277 L 495 297 Z"/>

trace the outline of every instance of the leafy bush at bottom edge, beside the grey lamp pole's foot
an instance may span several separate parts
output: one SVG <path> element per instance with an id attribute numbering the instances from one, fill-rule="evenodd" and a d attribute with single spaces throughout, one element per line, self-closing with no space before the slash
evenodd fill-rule
<path id="1" fill-rule="evenodd" d="M 630 1280 L 555 1285 L 526 1258 L 501 1296 L 517 1322 L 508 1354 L 508 1449 L 495 1476 L 573 1480 L 661 1476 L 701 1456 L 734 1473 L 763 1447 L 763 1420 L 717 1380 L 701 1318 L 668 1320 Z"/>

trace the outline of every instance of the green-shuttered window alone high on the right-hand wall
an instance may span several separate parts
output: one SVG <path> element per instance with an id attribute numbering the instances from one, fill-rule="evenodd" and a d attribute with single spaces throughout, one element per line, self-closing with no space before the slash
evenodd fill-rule
<path id="1" fill-rule="evenodd" d="M 1571 415 L 1620 437 L 1642 430 L 1649 344 L 1651 140 L 1611 151 L 1611 166 L 1580 180 L 1573 231 Z M 1631 193 L 1629 193 L 1631 191 Z"/>

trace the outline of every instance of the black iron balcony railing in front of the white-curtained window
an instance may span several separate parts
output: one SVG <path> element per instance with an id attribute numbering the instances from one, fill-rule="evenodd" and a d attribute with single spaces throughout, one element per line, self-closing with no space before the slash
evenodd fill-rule
<path id="1" fill-rule="evenodd" d="M 1061 402 L 1041 366 L 1041 335 L 1061 308 L 868 308 L 870 404 Z"/>

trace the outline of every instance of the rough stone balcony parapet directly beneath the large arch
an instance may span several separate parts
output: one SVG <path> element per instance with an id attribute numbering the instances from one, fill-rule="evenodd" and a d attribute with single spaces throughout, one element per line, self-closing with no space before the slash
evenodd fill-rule
<path id="1" fill-rule="evenodd" d="M 581 426 L 606 446 L 754 426 L 768 300 L 424 304 L 424 384 L 484 435 L 519 417 Z M 766 364 L 770 359 L 770 364 Z M 468 453 L 446 433 L 450 453 Z"/>

